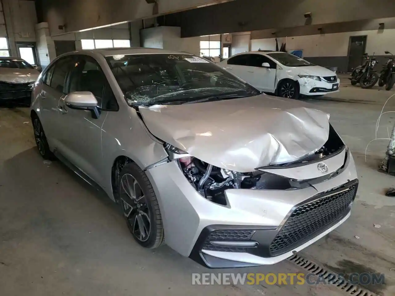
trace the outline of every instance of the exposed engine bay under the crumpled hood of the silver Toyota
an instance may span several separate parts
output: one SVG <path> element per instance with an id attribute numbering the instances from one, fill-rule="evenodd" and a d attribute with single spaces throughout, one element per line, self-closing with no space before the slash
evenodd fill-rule
<path id="1" fill-rule="evenodd" d="M 309 154 L 301 159 L 282 164 L 268 166 L 282 167 L 286 169 L 292 165 L 308 165 L 309 163 L 324 160 L 331 157 L 344 149 L 344 144 L 339 135 L 332 126 L 329 129 L 329 139 L 322 148 L 316 152 Z M 174 152 L 174 147 L 173 147 Z M 177 154 L 182 154 L 177 151 Z M 188 155 L 188 154 L 186 154 Z M 235 172 L 232 170 L 215 167 L 209 163 L 201 161 L 197 157 L 180 155 L 177 158 L 179 166 L 188 179 L 190 184 L 203 197 L 212 202 L 226 205 L 225 190 L 226 189 L 266 189 L 266 190 L 286 190 L 301 188 L 301 184 L 293 179 L 284 176 L 260 171 L 257 168 L 254 172 Z M 331 175 L 330 177 L 332 177 Z M 330 178 L 328 177 L 328 178 Z M 306 182 L 305 182 L 306 183 Z M 308 183 L 308 182 L 307 182 Z M 306 184 L 308 186 L 309 184 Z"/>

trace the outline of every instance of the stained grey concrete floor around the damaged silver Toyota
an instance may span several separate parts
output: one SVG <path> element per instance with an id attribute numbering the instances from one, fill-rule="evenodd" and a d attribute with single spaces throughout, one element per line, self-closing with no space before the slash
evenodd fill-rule
<path id="1" fill-rule="evenodd" d="M 369 145 L 389 95 L 342 80 L 340 92 L 307 99 L 331 114 L 353 152 L 360 178 L 351 217 L 301 255 L 336 272 L 377 271 L 395 294 L 395 198 L 384 195 L 395 178 L 377 171 L 388 141 Z M 395 107 L 395 96 L 386 111 Z M 395 114 L 382 116 L 387 137 Z M 25 123 L 28 122 L 28 123 Z M 375 228 L 373 224 L 379 224 Z M 359 239 L 355 238 L 358 236 Z M 275 266 L 209 270 L 169 247 L 139 247 L 119 209 L 60 162 L 43 163 L 34 146 L 28 110 L 0 107 L 0 295 L 343 295 L 329 286 L 191 285 L 193 272 L 303 272 L 285 261 Z"/>

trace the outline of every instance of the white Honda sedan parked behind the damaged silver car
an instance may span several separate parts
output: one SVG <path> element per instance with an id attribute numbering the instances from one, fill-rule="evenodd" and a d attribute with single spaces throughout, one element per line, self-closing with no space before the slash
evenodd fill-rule
<path id="1" fill-rule="evenodd" d="M 336 73 L 286 52 L 243 52 L 219 63 L 224 69 L 264 92 L 297 99 L 339 91 Z"/>

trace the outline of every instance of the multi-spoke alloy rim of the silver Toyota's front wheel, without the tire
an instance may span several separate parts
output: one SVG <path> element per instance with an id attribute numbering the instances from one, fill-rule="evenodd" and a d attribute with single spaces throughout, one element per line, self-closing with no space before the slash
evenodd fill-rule
<path id="1" fill-rule="evenodd" d="M 141 242 L 147 241 L 151 232 L 147 199 L 131 174 L 124 174 L 121 178 L 120 198 L 132 234 Z"/>

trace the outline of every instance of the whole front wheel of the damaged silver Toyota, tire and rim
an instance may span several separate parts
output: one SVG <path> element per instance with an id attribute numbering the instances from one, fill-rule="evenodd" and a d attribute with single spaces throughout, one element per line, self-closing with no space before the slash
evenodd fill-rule
<path id="1" fill-rule="evenodd" d="M 135 241 L 149 249 L 164 241 L 162 215 L 152 185 L 135 163 L 125 165 L 119 175 L 118 192 L 126 224 Z"/>

